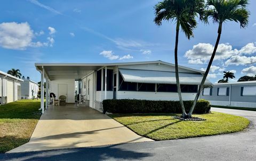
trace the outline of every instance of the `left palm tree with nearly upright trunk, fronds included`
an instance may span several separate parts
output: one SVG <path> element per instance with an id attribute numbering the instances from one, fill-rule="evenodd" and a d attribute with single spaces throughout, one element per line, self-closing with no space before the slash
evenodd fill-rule
<path id="1" fill-rule="evenodd" d="M 181 88 L 179 81 L 179 69 L 178 69 L 178 41 L 179 30 L 185 33 L 186 37 L 190 39 L 193 37 L 193 29 L 196 28 L 196 16 L 199 14 L 202 19 L 202 13 L 204 12 L 204 0 L 164 0 L 155 5 L 155 19 L 154 22 L 157 26 L 162 25 L 162 21 L 165 20 L 175 21 L 176 24 L 176 37 L 175 37 L 175 77 L 177 82 L 177 90 L 182 109 L 182 117 L 187 118 L 183 100 L 181 96 Z"/>

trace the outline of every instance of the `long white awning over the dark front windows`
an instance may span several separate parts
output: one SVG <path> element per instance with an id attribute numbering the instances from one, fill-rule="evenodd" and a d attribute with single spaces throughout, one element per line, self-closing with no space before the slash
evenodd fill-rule
<path id="1" fill-rule="evenodd" d="M 119 72 L 125 82 L 176 84 L 175 72 L 132 69 L 119 69 Z M 199 85 L 202 78 L 200 73 L 179 73 L 180 84 Z M 207 79 L 204 85 L 213 86 Z"/>

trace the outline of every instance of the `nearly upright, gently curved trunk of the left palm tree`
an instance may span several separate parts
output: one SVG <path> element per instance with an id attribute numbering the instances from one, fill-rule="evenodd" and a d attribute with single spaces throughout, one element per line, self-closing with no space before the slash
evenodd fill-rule
<path id="1" fill-rule="evenodd" d="M 178 43 L 179 43 L 179 28 L 180 23 L 177 21 L 177 27 L 176 27 L 176 38 L 175 38 L 175 49 L 174 49 L 174 59 L 175 59 L 175 77 L 176 77 L 176 84 L 177 84 L 177 91 L 180 99 L 180 106 L 182 110 L 182 118 L 187 117 L 187 113 L 185 111 L 185 107 L 183 104 L 182 96 L 181 96 L 181 89 L 180 89 L 180 80 L 179 80 L 179 66 L 178 66 Z"/>

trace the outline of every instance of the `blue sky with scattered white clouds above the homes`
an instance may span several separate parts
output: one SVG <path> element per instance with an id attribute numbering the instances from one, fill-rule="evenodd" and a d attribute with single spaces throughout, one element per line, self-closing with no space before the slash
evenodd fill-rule
<path id="1" fill-rule="evenodd" d="M 162 60 L 174 63 L 174 23 L 154 24 L 157 1 L 1 1 L 0 70 L 20 69 L 39 81 L 34 63 L 104 63 Z M 209 79 L 223 71 L 256 74 L 256 2 L 250 23 L 223 24 Z M 179 64 L 205 69 L 217 38 L 217 24 L 198 23 L 194 38 L 180 33 Z M 234 80 L 236 81 L 236 80 Z"/>

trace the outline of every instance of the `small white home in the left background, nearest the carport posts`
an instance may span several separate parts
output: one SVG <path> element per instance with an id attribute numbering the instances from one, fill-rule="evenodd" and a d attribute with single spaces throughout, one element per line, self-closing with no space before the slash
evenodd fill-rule
<path id="1" fill-rule="evenodd" d="M 22 78 L 21 82 L 21 99 L 34 99 L 38 94 L 38 83 L 31 81 L 29 77 L 27 79 Z"/>

